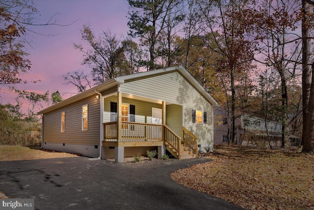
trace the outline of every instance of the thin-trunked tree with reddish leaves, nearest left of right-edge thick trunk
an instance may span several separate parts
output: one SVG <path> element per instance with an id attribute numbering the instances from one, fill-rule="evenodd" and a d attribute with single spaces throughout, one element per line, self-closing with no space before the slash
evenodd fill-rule
<path id="1" fill-rule="evenodd" d="M 297 75 L 301 60 L 300 36 L 295 32 L 300 20 L 298 9 L 295 0 L 260 0 L 245 13 L 248 31 L 259 43 L 255 60 L 274 69 L 281 81 L 281 147 L 285 147 L 288 134 L 287 86 Z"/>

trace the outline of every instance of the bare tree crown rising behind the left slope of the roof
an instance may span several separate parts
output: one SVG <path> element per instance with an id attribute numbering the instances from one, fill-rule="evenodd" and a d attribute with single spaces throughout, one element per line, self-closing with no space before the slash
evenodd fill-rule
<path id="1" fill-rule="evenodd" d="M 74 47 L 83 53 L 82 64 L 91 71 L 74 71 L 64 75 L 66 84 L 72 84 L 78 91 L 84 91 L 118 75 L 138 72 L 141 51 L 131 39 L 121 41 L 121 38 L 110 31 L 103 31 L 96 37 L 86 25 L 81 33 L 82 40 L 87 42 L 88 47 L 83 47 L 82 44 L 74 44 Z"/>

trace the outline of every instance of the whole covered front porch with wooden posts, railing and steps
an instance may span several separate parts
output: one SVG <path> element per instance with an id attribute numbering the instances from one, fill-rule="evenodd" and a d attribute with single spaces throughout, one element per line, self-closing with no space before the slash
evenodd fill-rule
<path id="1" fill-rule="evenodd" d="M 197 138 L 183 127 L 182 105 L 120 91 L 105 95 L 104 159 L 123 162 L 146 150 L 157 150 L 158 158 L 166 150 L 178 159 L 197 156 Z"/>

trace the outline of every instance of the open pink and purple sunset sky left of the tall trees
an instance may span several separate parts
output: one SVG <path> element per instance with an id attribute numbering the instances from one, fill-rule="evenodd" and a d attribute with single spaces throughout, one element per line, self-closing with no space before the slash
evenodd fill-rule
<path id="1" fill-rule="evenodd" d="M 27 31 L 26 40 L 31 46 L 26 45 L 25 51 L 31 61 L 31 69 L 23 75 L 23 80 L 41 80 L 38 83 L 16 85 L 20 90 L 49 93 L 59 90 L 63 99 L 77 93 L 77 89 L 71 85 L 63 85 L 62 75 L 78 69 L 86 69 L 82 66 L 82 54 L 74 49 L 73 43 L 84 43 L 81 40 L 80 30 L 83 25 L 90 25 L 95 35 L 103 30 L 110 30 L 118 36 L 127 36 L 129 30 L 127 0 L 33 0 L 40 16 L 35 19 L 36 24 L 46 24 L 55 14 L 51 23 L 70 26 L 38 26 L 31 27 L 39 35 Z M 50 36 L 48 34 L 56 34 Z M 6 86 L 0 87 L 0 102 L 15 103 L 15 95 L 8 94 Z"/>

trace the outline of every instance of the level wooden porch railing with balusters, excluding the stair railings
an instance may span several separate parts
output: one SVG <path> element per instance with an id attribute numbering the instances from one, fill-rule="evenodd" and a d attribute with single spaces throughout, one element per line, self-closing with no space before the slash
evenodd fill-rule
<path id="1" fill-rule="evenodd" d="M 121 141 L 162 141 L 163 130 L 163 125 L 160 124 L 123 121 Z M 104 123 L 104 138 L 105 141 L 117 141 L 116 121 Z"/>

